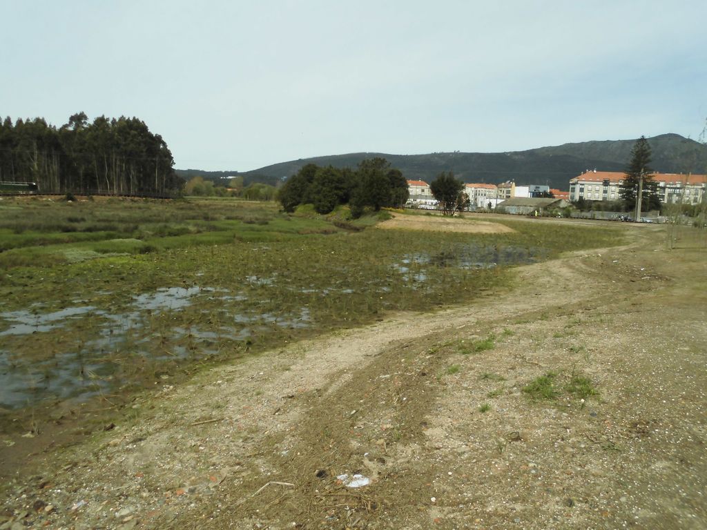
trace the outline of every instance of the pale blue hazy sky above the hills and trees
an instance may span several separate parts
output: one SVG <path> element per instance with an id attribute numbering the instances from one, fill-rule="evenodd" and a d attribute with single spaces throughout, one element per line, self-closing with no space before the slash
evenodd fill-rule
<path id="1" fill-rule="evenodd" d="M 138 117 L 179 169 L 707 119 L 704 0 L 0 0 L 0 20 L 1 117 Z"/>

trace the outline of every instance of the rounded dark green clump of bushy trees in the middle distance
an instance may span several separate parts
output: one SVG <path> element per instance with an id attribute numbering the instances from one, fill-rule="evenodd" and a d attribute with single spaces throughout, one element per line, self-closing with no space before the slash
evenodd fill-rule
<path id="1" fill-rule="evenodd" d="M 339 204 L 349 204 L 358 218 L 365 208 L 402 208 L 409 198 L 407 180 L 385 158 L 362 160 L 356 170 L 307 164 L 279 189 L 278 200 L 285 211 L 312 204 L 317 213 L 329 213 Z"/>

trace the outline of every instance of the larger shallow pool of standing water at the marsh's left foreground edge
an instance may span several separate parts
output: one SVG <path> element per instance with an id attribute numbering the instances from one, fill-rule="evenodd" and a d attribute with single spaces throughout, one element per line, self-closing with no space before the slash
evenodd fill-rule
<path id="1" fill-rule="evenodd" d="M 153 362 L 185 360 L 214 355 L 219 341 L 247 341 L 254 331 L 262 331 L 267 326 L 309 326 L 307 307 L 286 316 L 268 312 L 235 314 L 233 325 L 221 326 L 216 331 L 201 329 L 198 325 L 173 326 L 168 330 L 170 348 L 156 348 L 155 338 L 144 329 L 148 319 L 163 312 L 185 310 L 203 296 L 216 296 L 223 301 L 246 298 L 216 293 L 211 288 L 173 287 L 134 296 L 129 311 L 117 314 L 91 305 L 76 305 L 54 312 L 42 312 L 40 306 L 35 306 L 0 313 L 0 407 L 16 409 L 46 400 L 84 400 L 110 394 L 125 383 L 124 360 L 115 359 L 113 353 L 127 348 Z M 7 342 L 3 338 L 25 337 L 31 343 L 37 336 L 66 329 L 81 319 L 92 319 L 98 324 L 91 338 L 69 351 L 49 356 L 23 355 L 2 346 Z M 199 343 L 197 353 L 179 343 L 187 338 Z"/>

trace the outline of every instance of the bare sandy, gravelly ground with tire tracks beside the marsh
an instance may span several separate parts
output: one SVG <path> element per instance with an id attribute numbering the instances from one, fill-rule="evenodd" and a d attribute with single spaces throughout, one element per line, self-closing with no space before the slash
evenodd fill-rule
<path id="1" fill-rule="evenodd" d="M 707 253 L 655 234 L 165 385 L 9 485 L 8 528 L 705 528 Z"/>

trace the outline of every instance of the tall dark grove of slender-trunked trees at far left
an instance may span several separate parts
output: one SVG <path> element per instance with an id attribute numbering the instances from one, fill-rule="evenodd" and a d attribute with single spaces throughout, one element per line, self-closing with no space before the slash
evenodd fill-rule
<path id="1" fill-rule="evenodd" d="M 0 123 L 0 181 L 41 192 L 170 194 L 183 184 L 167 143 L 141 119 L 84 112 L 57 127 L 43 118 Z"/>

